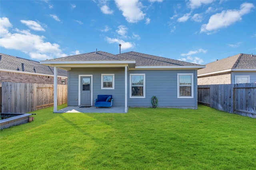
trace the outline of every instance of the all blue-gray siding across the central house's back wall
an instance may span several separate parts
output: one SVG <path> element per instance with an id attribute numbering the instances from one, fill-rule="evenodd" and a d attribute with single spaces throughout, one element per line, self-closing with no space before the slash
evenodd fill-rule
<path id="1" fill-rule="evenodd" d="M 193 73 L 194 98 L 177 97 L 178 73 Z M 68 71 L 68 106 L 78 106 L 81 74 L 93 74 L 93 99 L 98 94 L 112 94 L 113 106 L 124 106 L 124 68 L 72 68 Z M 101 74 L 114 74 L 114 90 L 101 89 Z M 130 98 L 130 74 L 145 74 L 145 98 Z M 197 70 L 128 70 L 127 82 L 128 106 L 152 107 L 151 98 L 156 96 L 159 107 L 197 108 Z"/>

